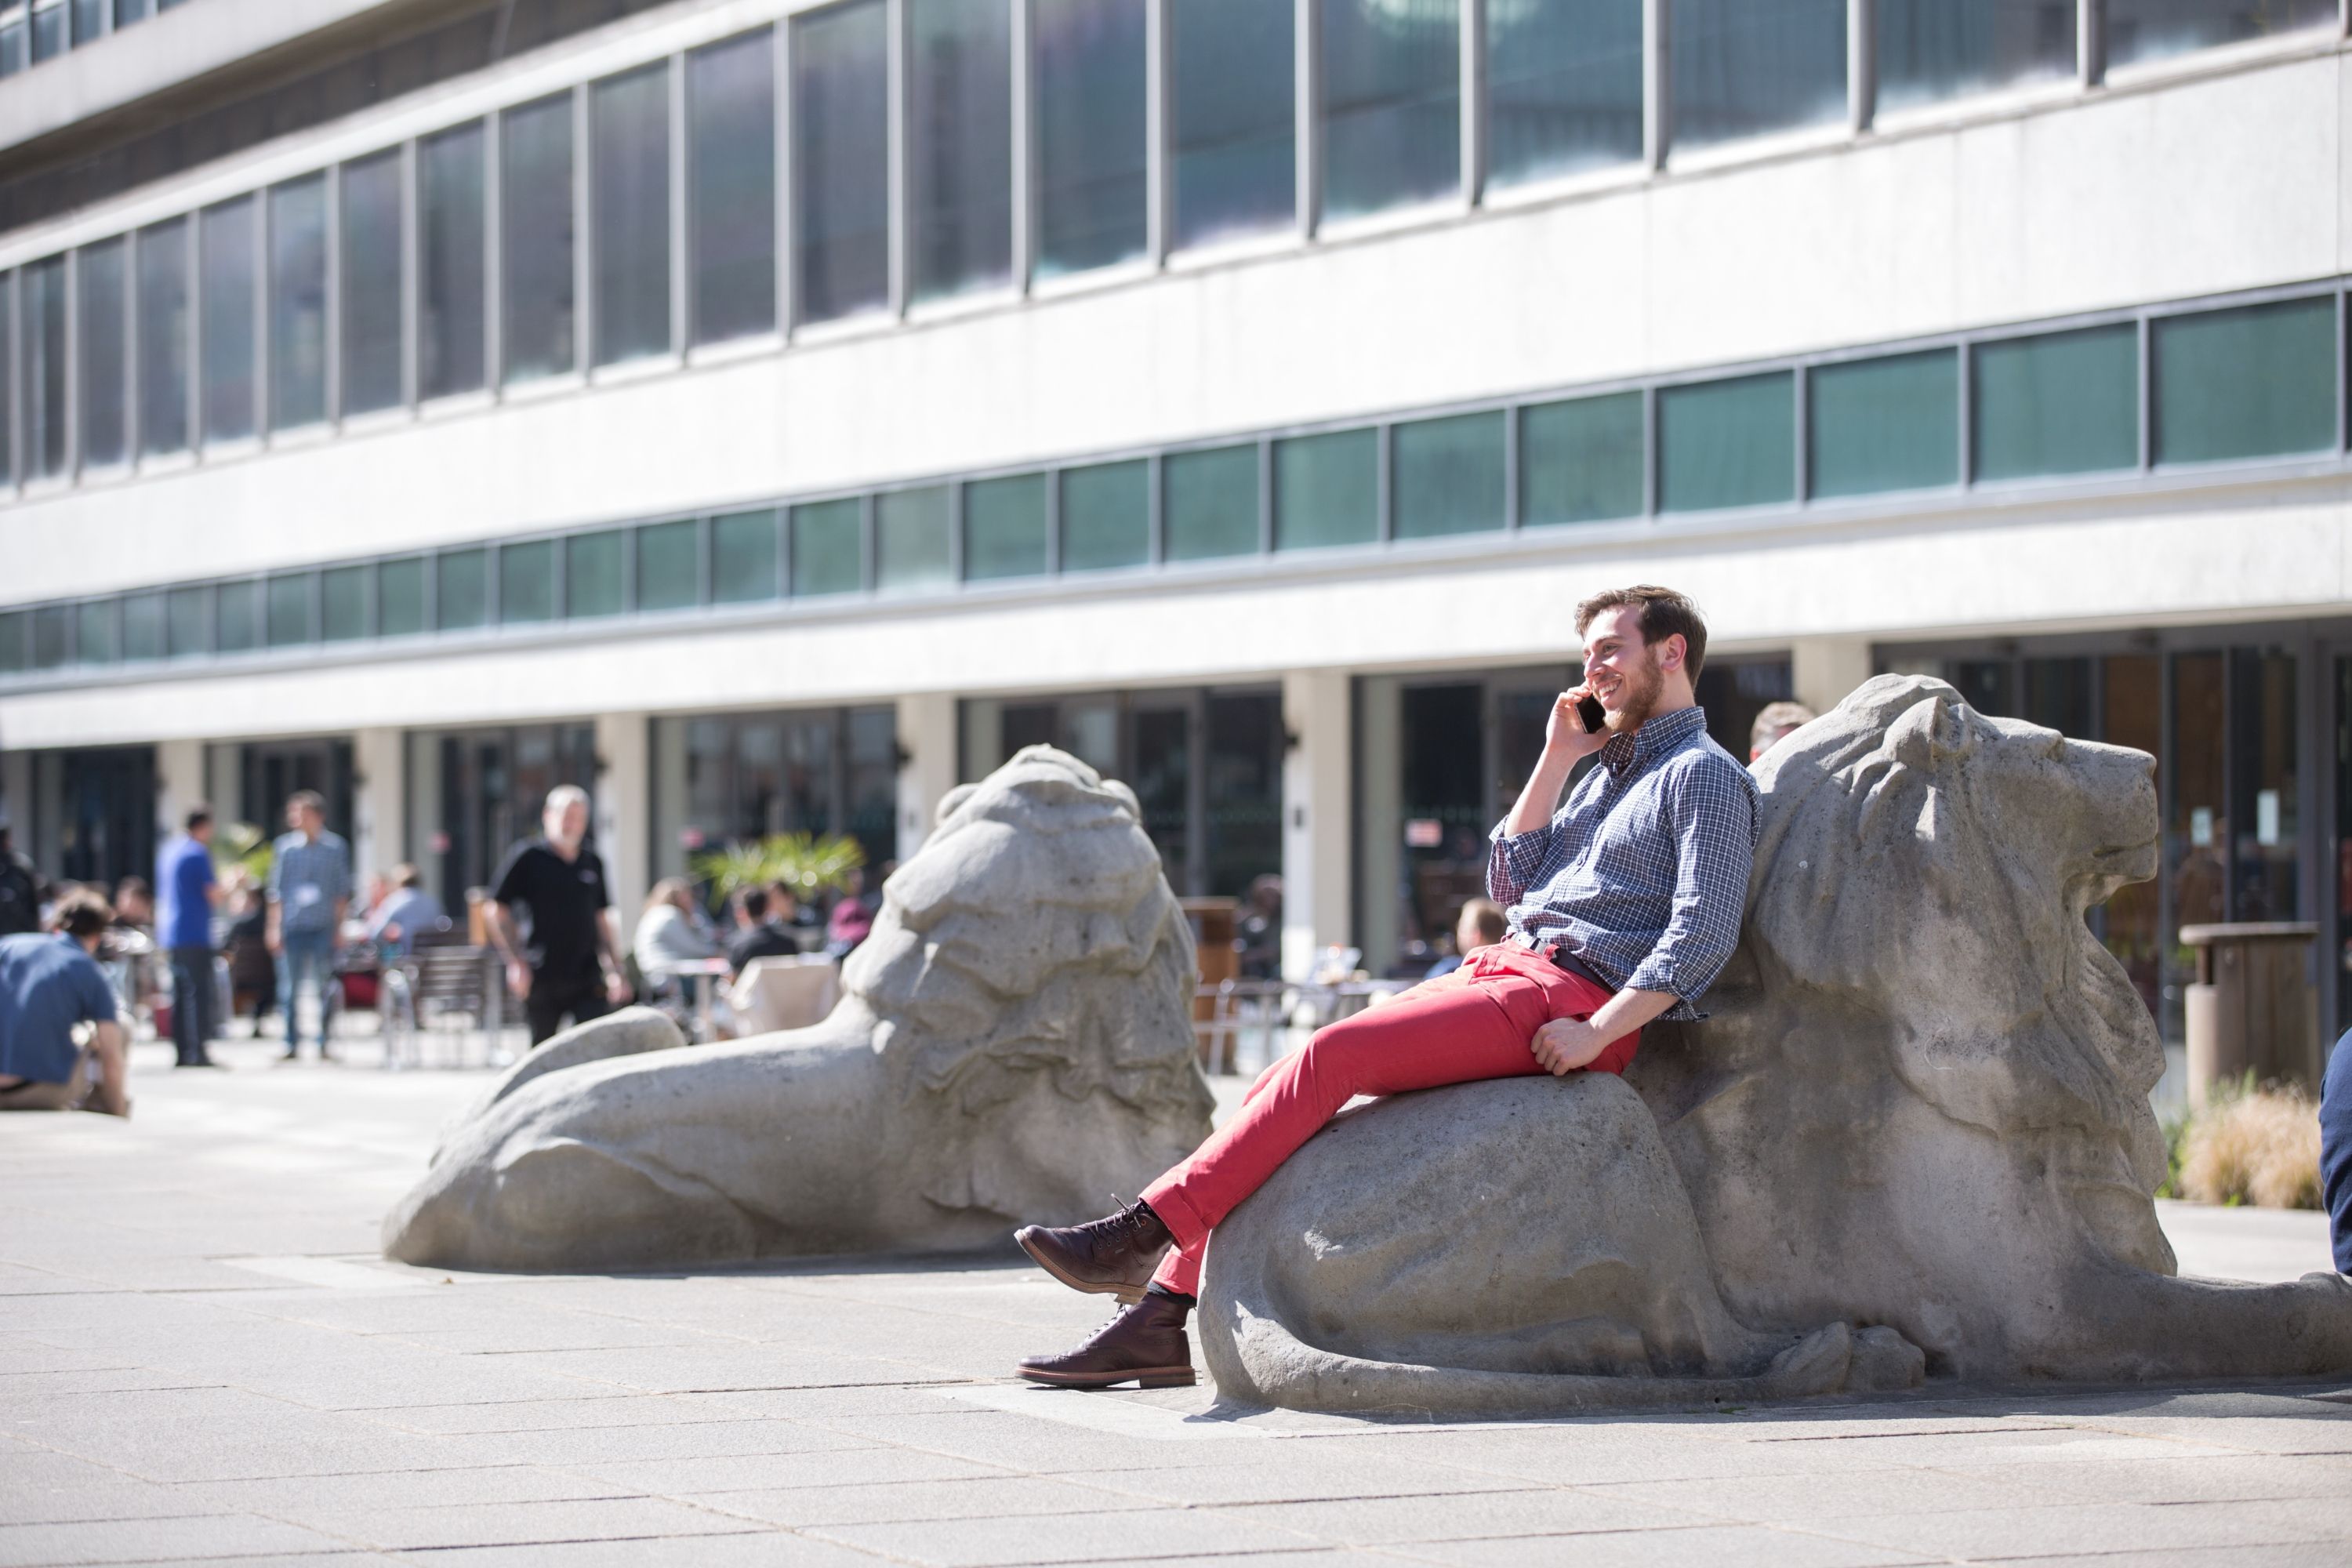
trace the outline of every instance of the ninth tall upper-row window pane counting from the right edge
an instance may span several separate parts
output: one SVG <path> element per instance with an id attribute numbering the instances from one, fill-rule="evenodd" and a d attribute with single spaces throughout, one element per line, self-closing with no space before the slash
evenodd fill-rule
<path id="1" fill-rule="evenodd" d="M 882 0 L 793 19 L 793 282 L 804 322 L 889 303 Z"/>

